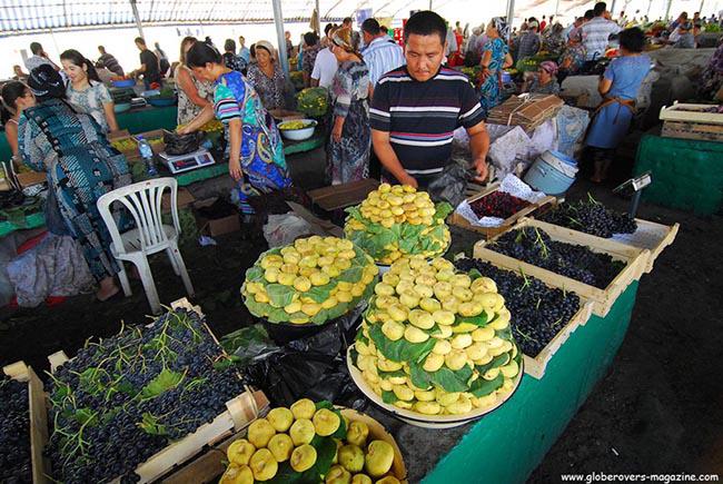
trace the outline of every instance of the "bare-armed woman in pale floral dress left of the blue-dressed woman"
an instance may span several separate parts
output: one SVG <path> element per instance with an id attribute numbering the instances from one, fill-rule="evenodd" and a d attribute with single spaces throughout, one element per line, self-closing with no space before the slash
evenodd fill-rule
<path id="1" fill-rule="evenodd" d="M 196 118 L 207 106 L 211 105 L 214 98 L 214 85 L 197 79 L 194 72 L 186 66 L 186 53 L 198 42 L 195 37 L 185 37 L 181 40 L 179 62 L 176 66 L 174 78 L 178 89 L 178 115 L 176 121 L 185 125 Z"/>

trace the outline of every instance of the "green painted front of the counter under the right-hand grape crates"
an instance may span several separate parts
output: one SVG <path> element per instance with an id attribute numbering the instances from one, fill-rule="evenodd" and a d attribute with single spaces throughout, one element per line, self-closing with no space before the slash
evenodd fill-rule
<path id="1" fill-rule="evenodd" d="M 625 338 L 636 293 L 633 283 L 605 318 L 593 316 L 577 328 L 543 379 L 525 375 L 511 399 L 474 424 L 422 482 L 524 483 L 607 372 Z"/>

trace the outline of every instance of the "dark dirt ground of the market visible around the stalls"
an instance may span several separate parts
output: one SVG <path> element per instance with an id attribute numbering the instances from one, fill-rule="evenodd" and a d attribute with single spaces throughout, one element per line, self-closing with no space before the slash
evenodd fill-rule
<path id="1" fill-rule="evenodd" d="M 320 152 L 291 157 L 289 165 L 300 186 L 320 184 L 321 159 Z M 573 187 L 570 198 L 587 191 L 610 206 L 627 207 L 627 200 L 611 194 L 611 186 L 584 180 Z M 677 239 L 642 279 L 630 332 L 611 372 L 531 475 L 532 483 L 558 482 L 570 472 L 723 473 L 723 217 L 696 217 L 646 204 L 638 216 L 680 223 Z M 187 247 L 184 256 L 196 287 L 195 302 L 212 330 L 224 335 L 250 319 L 239 288 L 245 269 L 266 243 L 261 234 L 249 230 L 217 241 Z M 152 263 L 152 270 L 162 302 L 185 296 L 165 257 Z M 24 359 L 43 371 L 53 352 L 73 355 L 87 338 L 117 333 L 121 320 L 145 322 L 142 287 L 131 284 L 132 297 L 105 304 L 86 295 L 53 308 L 0 309 L 0 364 Z M 423 473 L 419 468 L 414 475 Z"/>

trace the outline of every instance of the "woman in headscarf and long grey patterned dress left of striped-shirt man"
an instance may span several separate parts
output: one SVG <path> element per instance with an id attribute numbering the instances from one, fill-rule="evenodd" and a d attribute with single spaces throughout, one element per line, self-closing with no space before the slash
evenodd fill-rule
<path id="1" fill-rule="evenodd" d="M 329 89 L 334 108 L 327 170 L 331 185 L 338 185 L 367 178 L 369 174 L 369 69 L 353 43 L 350 28 L 337 30 L 331 41 L 339 69 Z"/>

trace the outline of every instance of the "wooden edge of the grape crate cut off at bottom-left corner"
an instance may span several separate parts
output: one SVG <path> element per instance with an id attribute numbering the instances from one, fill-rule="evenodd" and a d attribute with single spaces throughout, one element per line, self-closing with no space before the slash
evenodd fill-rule
<path id="1" fill-rule="evenodd" d="M 49 468 L 48 457 L 42 451 L 48 442 L 48 412 L 42 382 L 36 372 L 23 362 L 4 366 L 2 372 L 12 379 L 28 383 L 28 406 L 30 412 L 30 457 L 32 460 L 32 482 L 34 484 L 50 483 L 46 470 Z"/>

